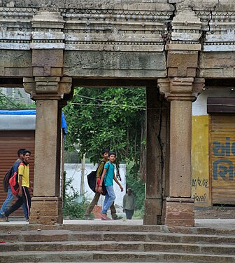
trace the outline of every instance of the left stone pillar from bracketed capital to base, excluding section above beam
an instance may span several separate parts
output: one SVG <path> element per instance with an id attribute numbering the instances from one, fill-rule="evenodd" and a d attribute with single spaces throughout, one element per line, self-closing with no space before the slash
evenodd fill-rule
<path id="1" fill-rule="evenodd" d="M 51 81 L 50 81 L 51 80 Z M 60 193 L 61 116 L 60 100 L 69 93 L 71 78 L 24 78 L 24 88 L 36 100 L 34 196 L 30 223 L 62 223 Z"/>

